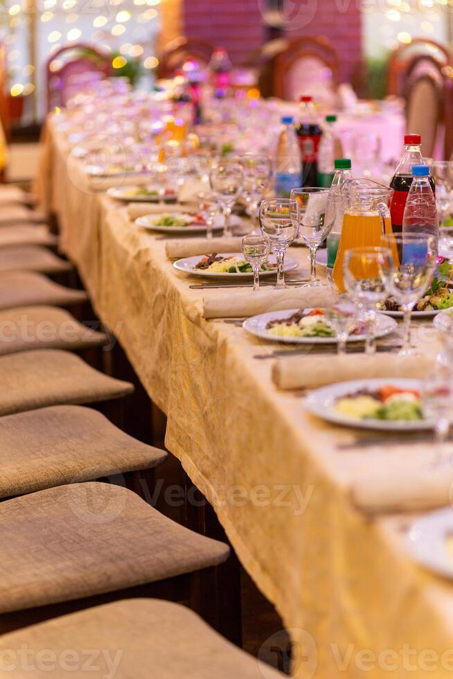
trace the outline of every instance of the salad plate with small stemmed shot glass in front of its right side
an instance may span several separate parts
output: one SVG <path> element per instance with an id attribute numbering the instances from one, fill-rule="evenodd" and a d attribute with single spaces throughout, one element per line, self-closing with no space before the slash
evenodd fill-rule
<path id="1" fill-rule="evenodd" d="M 251 278 L 253 271 L 242 252 L 229 252 L 210 255 L 197 255 L 185 257 L 173 264 L 175 269 L 192 276 L 207 276 L 208 278 Z M 299 262 L 285 258 L 285 272 L 292 271 L 299 266 Z M 275 255 L 269 255 L 267 262 L 261 265 L 260 276 L 275 276 L 277 264 Z"/>

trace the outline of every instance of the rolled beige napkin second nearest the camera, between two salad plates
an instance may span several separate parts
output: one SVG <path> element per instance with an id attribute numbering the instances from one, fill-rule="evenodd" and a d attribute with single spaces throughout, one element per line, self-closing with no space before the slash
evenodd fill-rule
<path id="1" fill-rule="evenodd" d="M 313 389 L 364 377 L 423 379 L 434 368 L 435 362 L 435 356 L 428 355 L 377 353 L 373 356 L 313 356 L 307 351 L 306 356 L 279 360 L 274 365 L 272 376 L 280 389 Z"/>

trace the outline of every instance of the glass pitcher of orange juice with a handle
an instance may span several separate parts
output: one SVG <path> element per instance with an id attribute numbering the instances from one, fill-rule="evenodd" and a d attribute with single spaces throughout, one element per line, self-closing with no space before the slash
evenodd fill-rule
<path id="1" fill-rule="evenodd" d="M 393 190 L 369 179 L 348 179 L 337 191 L 337 209 L 344 211 L 332 280 L 344 292 L 344 255 L 351 247 L 379 247 L 392 233 L 389 203 Z"/>

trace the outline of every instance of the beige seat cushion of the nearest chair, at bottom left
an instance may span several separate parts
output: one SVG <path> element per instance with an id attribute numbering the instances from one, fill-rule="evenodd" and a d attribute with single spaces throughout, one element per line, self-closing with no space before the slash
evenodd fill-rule
<path id="1" fill-rule="evenodd" d="M 283 679 L 262 661 L 233 646 L 194 612 L 158 599 L 125 599 L 65 615 L 0 639 L 8 677 L 22 679 L 21 649 L 33 679 L 85 679 L 87 649 L 103 649 L 89 676 L 101 679 Z M 39 652 L 52 649 L 52 657 Z M 67 651 L 73 649 L 73 662 Z M 50 662 L 49 662 L 50 661 Z M 96 666 L 96 667 L 94 667 Z M 0 664 L 1 669 L 1 664 Z"/>

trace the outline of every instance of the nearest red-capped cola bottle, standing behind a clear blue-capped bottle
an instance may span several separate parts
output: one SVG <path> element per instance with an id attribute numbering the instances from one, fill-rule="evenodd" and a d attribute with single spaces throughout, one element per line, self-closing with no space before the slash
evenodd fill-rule
<path id="1" fill-rule="evenodd" d="M 407 195 L 411 188 L 414 165 L 423 165 L 420 134 L 405 135 L 405 152 L 390 182 L 393 196 L 390 204 L 391 226 L 393 233 L 402 232 L 402 218 L 405 213 Z M 429 184 L 434 191 L 434 179 L 429 175 Z"/>

